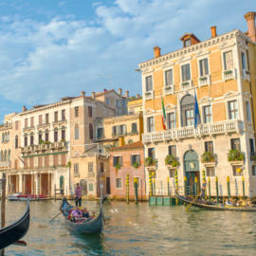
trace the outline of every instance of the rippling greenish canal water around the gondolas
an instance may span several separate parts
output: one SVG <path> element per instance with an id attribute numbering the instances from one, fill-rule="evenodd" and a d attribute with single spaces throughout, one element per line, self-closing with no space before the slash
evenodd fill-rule
<path id="1" fill-rule="evenodd" d="M 103 233 L 78 236 L 64 227 L 62 215 L 49 222 L 60 204 L 30 202 L 27 247 L 8 247 L 5 255 L 256 255 L 254 212 L 106 202 Z M 95 201 L 82 205 L 99 210 Z M 8 223 L 25 209 L 25 202 L 8 202 Z"/>

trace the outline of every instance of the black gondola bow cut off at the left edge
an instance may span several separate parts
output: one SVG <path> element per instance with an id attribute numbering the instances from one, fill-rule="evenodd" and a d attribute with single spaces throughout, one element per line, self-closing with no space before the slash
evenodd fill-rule
<path id="1" fill-rule="evenodd" d="M 29 228 L 29 203 L 25 214 L 15 223 L 6 228 L 0 229 L 0 250 L 14 244 L 27 233 Z"/>

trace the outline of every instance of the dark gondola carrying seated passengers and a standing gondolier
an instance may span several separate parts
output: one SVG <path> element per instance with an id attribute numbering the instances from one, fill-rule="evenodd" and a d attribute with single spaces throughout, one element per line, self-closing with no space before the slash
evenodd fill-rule
<path id="1" fill-rule="evenodd" d="M 101 233 L 103 229 L 104 218 L 102 207 L 99 215 L 96 218 L 88 218 L 87 220 L 79 223 L 71 222 L 67 219 L 68 210 L 70 210 L 71 208 L 72 206 L 64 198 L 60 210 L 64 215 L 64 222 L 68 229 L 80 234 Z"/>

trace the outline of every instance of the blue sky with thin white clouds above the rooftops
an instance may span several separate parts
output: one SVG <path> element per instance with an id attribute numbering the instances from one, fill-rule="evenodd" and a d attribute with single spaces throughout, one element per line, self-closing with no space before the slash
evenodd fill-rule
<path id="1" fill-rule="evenodd" d="M 154 46 L 246 31 L 247 11 L 255 0 L 0 0 L 0 119 L 80 91 L 141 93 L 135 69 Z"/>

